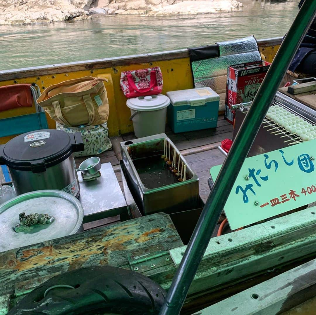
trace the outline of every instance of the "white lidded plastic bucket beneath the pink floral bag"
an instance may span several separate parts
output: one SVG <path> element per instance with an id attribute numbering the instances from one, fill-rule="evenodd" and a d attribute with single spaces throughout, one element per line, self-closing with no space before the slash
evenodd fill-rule
<path id="1" fill-rule="evenodd" d="M 126 105 L 131 109 L 135 136 L 142 138 L 165 132 L 169 104 L 170 99 L 162 94 L 128 99 Z"/>

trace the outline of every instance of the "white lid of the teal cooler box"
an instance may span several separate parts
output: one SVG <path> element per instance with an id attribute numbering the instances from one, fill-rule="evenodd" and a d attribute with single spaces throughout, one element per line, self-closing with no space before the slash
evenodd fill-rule
<path id="1" fill-rule="evenodd" d="M 219 95 L 210 87 L 167 92 L 173 106 L 199 106 L 207 102 L 219 101 Z"/>

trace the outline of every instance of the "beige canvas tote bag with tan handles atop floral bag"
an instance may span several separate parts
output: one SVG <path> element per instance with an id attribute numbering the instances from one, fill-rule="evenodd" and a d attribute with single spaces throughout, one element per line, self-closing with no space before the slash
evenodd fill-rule
<path id="1" fill-rule="evenodd" d="M 37 102 L 60 124 L 76 127 L 101 125 L 109 116 L 109 102 L 102 78 L 83 77 L 51 85 Z"/>

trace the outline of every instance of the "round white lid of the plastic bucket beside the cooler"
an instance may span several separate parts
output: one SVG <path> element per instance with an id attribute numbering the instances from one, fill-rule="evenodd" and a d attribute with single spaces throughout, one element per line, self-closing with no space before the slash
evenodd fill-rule
<path id="1" fill-rule="evenodd" d="M 129 98 L 126 102 L 127 107 L 139 111 L 159 110 L 170 104 L 169 97 L 163 94 L 138 96 Z"/>

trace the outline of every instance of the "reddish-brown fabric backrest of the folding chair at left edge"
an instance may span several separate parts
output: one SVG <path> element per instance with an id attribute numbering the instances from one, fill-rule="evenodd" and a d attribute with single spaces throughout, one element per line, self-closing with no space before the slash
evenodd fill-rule
<path id="1" fill-rule="evenodd" d="M 1 86 L 0 100 L 0 111 L 17 107 L 31 107 L 33 103 L 31 85 L 15 84 Z"/>

